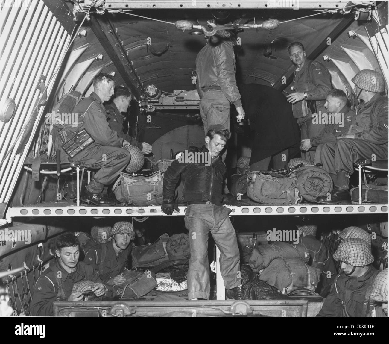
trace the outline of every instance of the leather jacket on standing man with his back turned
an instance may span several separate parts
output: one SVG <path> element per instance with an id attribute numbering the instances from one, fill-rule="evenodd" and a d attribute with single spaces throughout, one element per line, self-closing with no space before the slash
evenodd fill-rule
<path id="1" fill-rule="evenodd" d="M 228 101 L 242 106 L 235 79 L 235 55 L 230 40 L 219 44 L 208 43 L 196 57 L 196 88 L 200 98 L 206 89 L 221 90 Z"/>

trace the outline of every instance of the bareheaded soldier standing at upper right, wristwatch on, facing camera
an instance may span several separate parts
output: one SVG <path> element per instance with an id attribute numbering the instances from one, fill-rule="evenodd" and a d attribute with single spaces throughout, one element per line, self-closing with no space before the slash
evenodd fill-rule
<path id="1" fill-rule="evenodd" d="M 301 127 L 301 140 L 311 139 L 324 131 L 325 125 L 315 123 L 313 114 L 326 112 L 324 103 L 331 90 L 331 77 L 321 63 L 307 59 L 305 48 L 300 42 L 290 45 L 289 58 L 296 69 L 291 86 L 293 93 L 287 96 L 287 100 L 293 104 L 293 116 Z M 301 153 L 301 158 L 314 161 L 315 152 L 310 149 L 307 153 Z"/>

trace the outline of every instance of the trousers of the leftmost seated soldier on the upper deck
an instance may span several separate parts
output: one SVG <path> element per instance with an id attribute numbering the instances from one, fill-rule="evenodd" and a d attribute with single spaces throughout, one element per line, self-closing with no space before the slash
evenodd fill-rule
<path id="1" fill-rule="evenodd" d="M 100 168 L 89 183 L 90 186 L 88 184 L 86 187 L 88 191 L 98 193 L 103 190 L 104 185 L 115 181 L 130 162 L 131 154 L 123 148 L 94 144 L 77 154 L 73 160 L 83 163 L 87 168 Z"/>

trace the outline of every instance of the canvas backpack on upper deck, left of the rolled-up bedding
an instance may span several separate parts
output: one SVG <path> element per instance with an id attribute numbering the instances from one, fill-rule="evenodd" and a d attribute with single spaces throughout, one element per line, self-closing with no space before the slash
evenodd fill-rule
<path id="1" fill-rule="evenodd" d="M 259 171 L 247 172 L 247 195 L 265 204 L 298 204 L 302 201 L 296 175 L 273 177 Z"/>

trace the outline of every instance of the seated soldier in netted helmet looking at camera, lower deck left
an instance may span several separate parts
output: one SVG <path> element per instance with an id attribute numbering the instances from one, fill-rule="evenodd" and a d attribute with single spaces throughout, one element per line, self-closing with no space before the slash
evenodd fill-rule
<path id="1" fill-rule="evenodd" d="M 110 241 L 89 249 L 84 262 L 92 265 L 102 281 L 118 285 L 125 281 L 122 275 L 131 254 L 130 241 L 135 238 L 133 225 L 128 221 L 116 222 L 110 238 Z"/>

